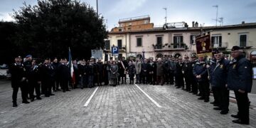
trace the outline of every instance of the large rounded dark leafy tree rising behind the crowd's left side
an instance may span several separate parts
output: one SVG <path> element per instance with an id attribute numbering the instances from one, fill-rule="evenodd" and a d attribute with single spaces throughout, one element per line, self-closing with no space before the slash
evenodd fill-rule
<path id="1" fill-rule="evenodd" d="M 13 14 L 18 32 L 16 45 L 37 58 L 90 58 L 90 50 L 104 47 L 104 18 L 88 4 L 74 0 L 38 0 Z"/>

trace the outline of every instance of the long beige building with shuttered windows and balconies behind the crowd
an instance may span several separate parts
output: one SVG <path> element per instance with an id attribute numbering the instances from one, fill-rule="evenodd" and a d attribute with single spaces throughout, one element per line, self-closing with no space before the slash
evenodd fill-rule
<path id="1" fill-rule="evenodd" d="M 229 55 L 233 46 L 240 46 L 250 59 L 256 50 L 256 23 L 230 26 L 148 28 L 134 31 L 111 31 L 107 48 L 118 46 L 119 56 L 159 58 L 164 55 L 190 55 L 196 53 L 196 36 L 210 33 L 213 50 Z M 255 51 L 256 53 L 256 51 Z M 256 56 L 255 56 L 256 59 Z"/>

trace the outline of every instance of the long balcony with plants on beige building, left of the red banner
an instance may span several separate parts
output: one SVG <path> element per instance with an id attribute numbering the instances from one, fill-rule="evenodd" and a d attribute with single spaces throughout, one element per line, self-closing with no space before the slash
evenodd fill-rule
<path id="1" fill-rule="evenodd" d="M 165 50 L 186 50 L 188 49 L 188 46 L 186 46 L 185 43 L 183 43 L 181 46 L 174 46 L 171 43 L 165 43 L 164 45 L 152 45 L 154 48 L 154 51 L 165 51 Z"/>

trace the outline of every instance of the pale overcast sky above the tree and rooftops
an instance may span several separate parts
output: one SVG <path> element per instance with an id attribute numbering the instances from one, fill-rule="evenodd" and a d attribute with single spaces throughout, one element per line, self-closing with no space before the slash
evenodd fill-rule
<path id="1" fill-rule="evenodd" d="M 11 21 L 14 10 L 19 10 L 26 4 L 35 5 L 36 0 L 0 0 L 0 20 Z M 80 0 L 93 6 L 96 10 L 96 0 Z M 120 18 L 149 15 L 151 23 L 160 26 L 165 23 L 185 21 L 191 26 L 192 21 L 198 21 L 204 26 L 215 26 L 218 5 L 218 18 L 223 17 L 223 24 L 238 24 L 256 22 L 256 0 L 98 0 L 99 14 L 107 20 L 107 29 L 117 26 Z M 220 24 L 220 23 L 218 23 Z"/>

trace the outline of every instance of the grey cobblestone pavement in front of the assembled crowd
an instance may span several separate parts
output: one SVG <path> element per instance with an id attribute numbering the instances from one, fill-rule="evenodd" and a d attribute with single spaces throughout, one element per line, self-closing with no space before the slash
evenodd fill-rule
<path id="1" fill-rule="evenodd" d="M 100 86 L 87 107 L 95 87 L 55 92 L 27 105 L 18 94 L 14 108 L 10 86 L 0 81 L 1 127 L 256 127 L 255 109 L 250 109 L 250 125 L 234 124 L 230 115 L 237 112 L 235 103 L 230 102 L 230 112 L 222 115 L 210 103 L 172 85 L 138 85 L 161 108 L 135 85 Z"/>

